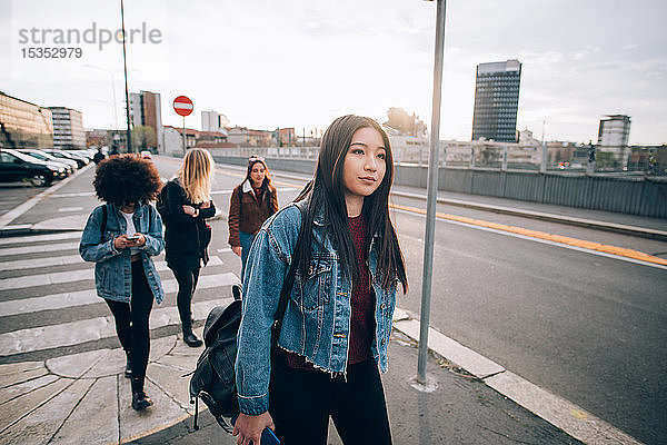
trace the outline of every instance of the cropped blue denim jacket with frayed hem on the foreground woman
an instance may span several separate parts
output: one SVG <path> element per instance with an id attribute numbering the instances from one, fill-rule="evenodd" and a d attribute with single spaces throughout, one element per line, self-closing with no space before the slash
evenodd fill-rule
<path id="1" fill-rule="evenodd" d="M 259 415 L 269 408 L 271 325 L 300 225 L 301 212 L 295 205 L 288 206 L 267 219 L 250 249 L 236 360 L 238 400 L 245 414 Z M 352 283 L 341 270 L 327 225 L 323 215 L 313 218 L 310 270 L 306 277 L 298 271 L 295 276 L 278 346 L 335 375 L 347 373 Z M 374 235 L 368 255 L 376 297 L 371 354 L 385 373 L 396 280 L 388 290 L 382 288 L 377 275 L 378 248 L 379 235 Z"/>

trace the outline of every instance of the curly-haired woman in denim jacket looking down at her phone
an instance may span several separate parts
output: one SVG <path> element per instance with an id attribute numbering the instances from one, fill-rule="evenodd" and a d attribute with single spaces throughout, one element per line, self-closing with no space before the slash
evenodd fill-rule
<path id="1" fill-rule="evenodd" d="M 94 263 L 97 293 L 113 314 L 127 354 L 132 408 L 141 411 L 152 405 L 143 392 L 150 350 L 148 318 L 153 298 L 158 304 L 165 298 L 151 259 L 165 247 L 162 220 L 149 205 L 160 189 L 160 175 L 150 160 L 112 156 L 98 165 L 92 184 L 106 204 L 88 217 L 79 253 Z"/>

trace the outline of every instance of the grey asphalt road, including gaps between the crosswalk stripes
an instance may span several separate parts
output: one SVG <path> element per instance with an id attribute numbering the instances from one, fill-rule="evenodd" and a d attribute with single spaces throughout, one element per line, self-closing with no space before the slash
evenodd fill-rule
<path id="1" fill-rule="evenodd" d="M 156 157 L 155 162 L 166 178 L 173 176 L 180 165 L 178 159 L 161 157 Z M 240 260 L 229 253 L 227 245 L 226 216 L 231 189 L 243 174 L 238 167 L 218 167 L 213 199 L 223 218 L 211 224 L 210 251 L 220 256 L 222 266 L 207 267 L 203 275 L 219 270 L 239 273 Z M 97 204 L 90 195 L 90 178 L 77 178 L 81 196 L 49 198 L 39 211 L 33 209 L 13 224 L 37 222 L 68 212 L 88 214 Z M 280 205 L 285 205 L 293 199 L 302 181 L 278 175 L 275 185 Z M 6 190 L 3 187 L 2 200 L 8 196 L 14 199 Z M 408 198 L 394 197 L 392 202 L 426 207 L 425 201 Z M 438 210 L 661 257 L 667 253 L 667 243 L 649 239 L 458 207 L 438 206 Z M 419 317 L 425 218 L 398 210 L 394 211 L 394 218 L 410 280 L 410 290 L 399 297 L 399 307 Z M 442 220 L 436 222 L 434 263 L 432 327 L 639 441 L 665 443 L 667 270 Z M 53 266 L 44 273 L 66 269 Z M 1 271 L 0 278 L 22 274 Z M 163 279 L 169 277 L 169 273 L 161 275 Z M 48 293 L 74 288 L 76 284 L 50 286 Z M 41 295 L 47 287 L 30 290 Z M 8 290 L 2 299 L 18 299 L 24 294 L 24 289 Z M 216 297 L 215 289 L 198 290 L 197 295 L 199 299 Z M 171 306 L 175 301 L 166 304 Z M 0 333 L 30 324 L 42 326 L 82 316 L 99 317 L 107 312 L 103 304 L 98 304 L 76 312 L 44 310 L 39 320 L 20 314 L 3 317 Z M 176 327 L 162 329 L 176 332 Z M 109 338 L 58 350 L 32 352 L 2 362 L 42 359 L 115 342 Z"/>

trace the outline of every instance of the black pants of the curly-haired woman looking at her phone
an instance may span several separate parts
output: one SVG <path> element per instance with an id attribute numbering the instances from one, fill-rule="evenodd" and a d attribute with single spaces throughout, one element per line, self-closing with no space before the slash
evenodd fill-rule
<path id="1" fill-rule="evenodd" d="M 146 377 L 148 355 L 150 353 L 150 328 L 148 318 L 152 309 L 153 296 L 146 280 L 141 261 L 132 263 L 132 298 L 130 303 L 104 299 L 113 319 L 116 334 L 122 348 L 130 353 L 132 360 L 132 377 Z"/>

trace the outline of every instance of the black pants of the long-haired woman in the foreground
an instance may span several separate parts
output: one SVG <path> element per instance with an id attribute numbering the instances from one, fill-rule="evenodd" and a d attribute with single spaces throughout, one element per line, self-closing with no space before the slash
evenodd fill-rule
<path id="1" fill-rule="evenodd" d="M 279 354 L 278 354 L 279 355 Z M 344 444 L 391 444 L 385 392 L 372 358 L 348 366 L 347 382 L 273 360 L 269 412 L 283 445 L 325 445 L 329 416 Z"/>

